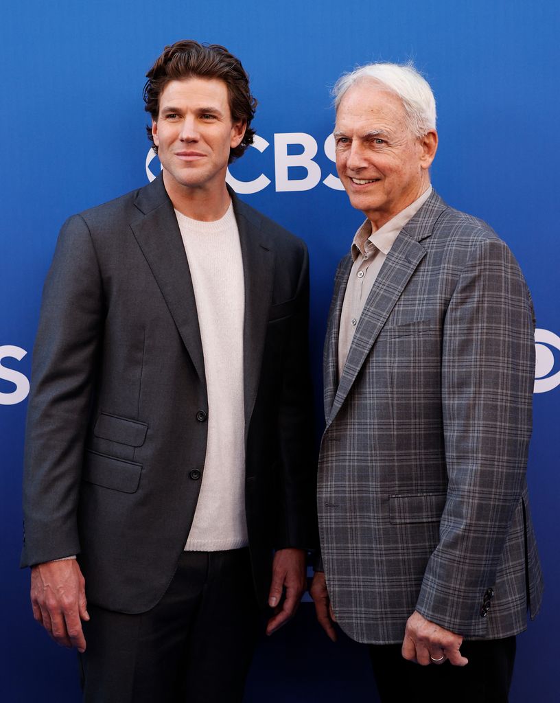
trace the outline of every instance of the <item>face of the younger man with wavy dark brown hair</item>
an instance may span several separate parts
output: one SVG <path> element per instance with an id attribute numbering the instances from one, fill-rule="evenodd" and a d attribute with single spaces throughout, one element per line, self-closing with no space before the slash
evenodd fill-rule
<path id="1" fill-rule="evenodd" d="M 230 148 L 245 134 L 245 122 L 233 122 L 226 83 L 217 78 L 171 81 L 159 96 L 152 135 L 167 190 L 223 188 Z"/>

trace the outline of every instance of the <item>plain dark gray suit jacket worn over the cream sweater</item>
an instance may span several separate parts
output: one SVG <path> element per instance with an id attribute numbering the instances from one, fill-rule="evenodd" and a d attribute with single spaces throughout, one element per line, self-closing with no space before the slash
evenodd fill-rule
<path id="1" fill-rule="evenodd" d="M 246 513 L 256 590 L 313 546 L 304 243 L 231 193 L 245 271 Z M 71 217 L 44 289 L 22 565 L 78 554 L 90 602 L 143 612 L 171 580 L 207 444 L 193 285 L 161 177 Z"/>

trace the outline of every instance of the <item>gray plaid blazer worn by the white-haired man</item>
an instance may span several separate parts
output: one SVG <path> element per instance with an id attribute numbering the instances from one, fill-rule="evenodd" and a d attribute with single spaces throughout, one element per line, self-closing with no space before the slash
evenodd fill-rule
<path id="1" fill-rule="evenodd" d="M 519 265 L 486 223 L 431 193 L 337 382 L 351 265 L 334 281 L 318 476 L 337 621 L 367 643 L 401 642 L 414 610 L 465 638 L 519 633 L 542 595 L 526 485 L 535 325 Z"/>

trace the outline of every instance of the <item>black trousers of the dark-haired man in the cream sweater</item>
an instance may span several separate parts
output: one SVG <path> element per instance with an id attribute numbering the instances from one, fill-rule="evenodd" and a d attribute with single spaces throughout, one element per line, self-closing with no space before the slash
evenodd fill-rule
<path id="1" fill-rule="evenodd" d="M 249 550 L 184 552 L 152 610 L 89 606 L 84 703 L 237 703 L 261 629 Z"/>

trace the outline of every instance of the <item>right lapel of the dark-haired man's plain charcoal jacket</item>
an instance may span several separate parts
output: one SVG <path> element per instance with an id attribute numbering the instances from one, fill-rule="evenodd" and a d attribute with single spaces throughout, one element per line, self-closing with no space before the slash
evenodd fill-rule
<path id="1" fill-rule="evenodd" d="M 266 325 L 272 300 L 275 255 L 262 231 L 259 213 L 238 200 L 233 191 L 230 191 L 230 195 L 239 230 L 245 278 L 243 374 L 247 439 L 261 377 Z"/>

